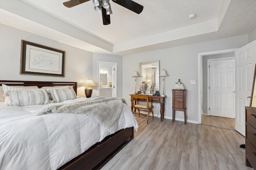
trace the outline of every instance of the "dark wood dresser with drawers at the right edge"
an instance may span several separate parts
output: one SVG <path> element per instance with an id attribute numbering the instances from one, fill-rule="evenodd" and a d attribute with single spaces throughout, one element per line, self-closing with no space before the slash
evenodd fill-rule
<path id="1" fill-rule="evenodd" d="M 245 107 L 245 162 L 256 170 L 256 107 Z"/>

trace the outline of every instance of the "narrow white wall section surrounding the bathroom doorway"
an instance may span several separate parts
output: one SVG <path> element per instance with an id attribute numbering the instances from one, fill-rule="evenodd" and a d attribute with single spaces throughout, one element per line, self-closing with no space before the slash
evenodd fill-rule
<path id="1" fill-rule="evenodd" d="M 93 80 L 97 81 L 97 62 L 98 61 L 107 61 L 112 63 L 117 63 L 117 97 L 122 97 L 122 91 L 123 91 L 123 59 L 121 56 L 115 56 L 115 55 L 106 55 L 106 54 L 98 54 L 93 53 Z M 96 83 L 96 82 L 95 82 Z M 93 89 L 92 94 L 97 95 L 98 90 L 95 86 Z"/>

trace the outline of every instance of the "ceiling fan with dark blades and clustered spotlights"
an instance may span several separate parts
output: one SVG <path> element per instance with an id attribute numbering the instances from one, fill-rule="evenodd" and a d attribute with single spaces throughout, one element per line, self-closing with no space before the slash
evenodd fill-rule
<path id="1" fill-rule="evenodd" d="M 87 1 L 90 1 L 90 0 L 69 0 L 67 2 L 63 2 L 63 5 L 68 8 L 72 8 L 74 6 L 77 6 Z M 112 1 L 137 14 L 140 14 L 143 10 L 142 5 L 132 0 L 112 0 Z M 102 12 L 103 25 L 110 24 L 110 14 L 112 14 L 112 11 L 111 11 L 109 0 L 92 0 L 92 3 L 95 6 L 94 10 L 96 12 L 100 12 L 100 11 Z"/>

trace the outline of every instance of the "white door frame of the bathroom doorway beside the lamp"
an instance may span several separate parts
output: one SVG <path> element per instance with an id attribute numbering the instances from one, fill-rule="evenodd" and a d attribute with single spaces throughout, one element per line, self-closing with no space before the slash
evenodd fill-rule
<path id="1" fill-rule="evenodd" d="M 112 75 L 112 96 L 116 97 L 117 96 L 117 63 L 114 62 L 108 62 L 108 61 L 97 61 L 97 90 L 98 90 L 98 96 L 100 95 L 100 64 L 112 64 L 114 65 L 115 71 Z M 112 70 L 113 71 L 113 70 Z M 114 94 L 114 95 L 113 95 Z"/>

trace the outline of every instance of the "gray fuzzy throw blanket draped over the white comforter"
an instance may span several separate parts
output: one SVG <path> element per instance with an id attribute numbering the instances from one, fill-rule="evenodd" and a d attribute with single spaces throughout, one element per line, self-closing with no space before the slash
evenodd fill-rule
<path id="1" fill-rule="evenodd" d="M 49 104 L 35 114 L 44 115 L 47 112 L 85 114 L 94 117 L 110 133 L 115 133 L 123 103 L 127 104 L 124 98 L 93 96 L 84 102 Z"/>

